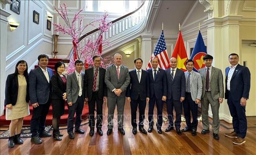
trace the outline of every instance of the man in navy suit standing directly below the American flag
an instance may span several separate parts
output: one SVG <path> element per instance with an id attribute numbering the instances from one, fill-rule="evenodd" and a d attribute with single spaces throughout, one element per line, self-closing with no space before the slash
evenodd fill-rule
<path id="1" fill-rule="evenodd" d="M 167 83 L 165 71 L 158 67 L 159 59 L 152 58 L 151 60 L 152 68 L 149 68 L 149 128 L 148 132 L 152 132 L 154 126 L 154 107 L 156 102 L 157 108 L 157 132 L 162 133 L 162 111 L 163 111 L 163 101 L 166 101 L 167 95 Z"/>

